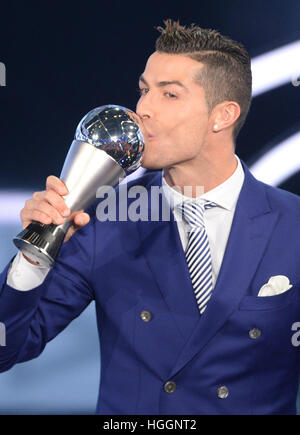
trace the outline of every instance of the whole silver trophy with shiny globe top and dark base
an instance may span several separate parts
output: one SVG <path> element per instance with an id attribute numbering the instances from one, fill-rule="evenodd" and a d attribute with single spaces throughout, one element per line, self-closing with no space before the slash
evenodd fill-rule
<path id="1" fill-rule="evenodd" d="M 108 105 L 85 115 L 60 175 L 69 190 L 63 198 L 71 215 L 92 204 L 100 186 L 116 186 L 135 171 L 143 151 L 140 119 L 131 110 Z M 53 266 L 71 223 L 69 218 L 62 225 L 32 222 L 14 238 L 14 243 L 34 262 Z"/>

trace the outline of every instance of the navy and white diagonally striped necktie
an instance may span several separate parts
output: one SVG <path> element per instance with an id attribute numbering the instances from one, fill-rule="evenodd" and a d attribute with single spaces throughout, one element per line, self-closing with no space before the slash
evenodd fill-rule
<path id="1" fill-rule="evenodd" d="M 190 227 L 185 256 L 200 314 L 204 312 L 213 290 L 210 248 L 203 220 L 204 211 L 211 207 L 217 207 L 217 204 L 185 202 L 179 206 Z"/>

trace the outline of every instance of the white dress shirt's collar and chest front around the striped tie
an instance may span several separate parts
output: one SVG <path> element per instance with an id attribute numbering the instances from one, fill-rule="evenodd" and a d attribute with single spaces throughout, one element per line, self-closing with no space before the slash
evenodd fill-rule
<path id="1" fill-rule="evenodd" d="M 215 286 L 221 268 L 236 203 L 245 178 L 243 166 L 240 162 L 240 159 L 237 155 L 235 155 L 235 157 L 237 158 L 238 165 L 234 173 L 222 184 L 219 184 L 214 189 L 211 189 L 208 192 L 205 192 L 204 194 L 195 198 L 195 201 L 205 199 L 207 201 L 212 201 L 218 205 L 218 207 L 212 207 L 205 210 L 203 216 L 207 238 L 210 246 L 213 287 Z M 169 203 L 171 209 L 173 210 L 174 218 L 177 221 L 178 232 L 183 250 L 186 251 L 188 244 L 189 226 L 185 222 L 185 220 L 182 219 L 182 215 L 178 208 L 176 208 L 176 205 L 182 204 L 182 202 L 186 200 L 191 201 L 191 197 L 184 196 L 172 187 L 170 187 L 164 177 L 162 178 L 162 186 L 163 191 L 166 193 L 166 201 Z"/>

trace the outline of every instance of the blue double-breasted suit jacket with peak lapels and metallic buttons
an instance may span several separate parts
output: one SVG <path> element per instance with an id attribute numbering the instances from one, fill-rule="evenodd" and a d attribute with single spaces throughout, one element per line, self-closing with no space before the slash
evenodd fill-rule
<path id="1" fill-rule="evenodd" d="M 200 317 L 176 222 L 91 222 L 64 244 L 29 292 L 1 275 L 7 345 L 0 370 L 37 357 L 95 299 L 101 341 L 100 414 L 295 413 L 299 376 L 300 199 L 257 181 L 244 162 L 213 295 Z M 161 172 L 131 184 L 161 185 Z M 149 204 L 151 208 L 151 204 Z M 257 297 L 274 275 L 286 293 Z M 141 316 L 151 314 L 150 321 Z M 260 330 L 257 338 L 249 331 Z M 166 392 L 165 383 L 176 389 Z M 226 386 L 228 396 L 218 397 Z M 174 389 L 173 389 L 174 390 Z"/>

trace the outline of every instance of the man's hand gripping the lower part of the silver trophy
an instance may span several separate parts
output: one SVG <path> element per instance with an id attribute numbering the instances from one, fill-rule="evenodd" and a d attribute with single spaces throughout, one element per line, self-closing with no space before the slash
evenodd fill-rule
<path id="1" fill-rule="evenodd" d="M 42 224 L 61 225 L 64 219 L 68 217 L 73 220 L 73 224 L 68 229 L 64 242 L 90 221 L 90 217 L 83 211 L 76 211 L 70 215 L 70 209 L 67 207 L 62 196 L 68 194 L 68 189 L 64 182 L 54 175 L 50 175 L 46 181 L 46 190 L 35 192 L 32 198 L 27 200 L 24 208 L 21 210 L 21 219 L 23 229 L 32 221 L 38 221 Z M 29 258 L 25 258 L 33 263 Z M 36 264 L 36 263 L 33 263 Z"/>

